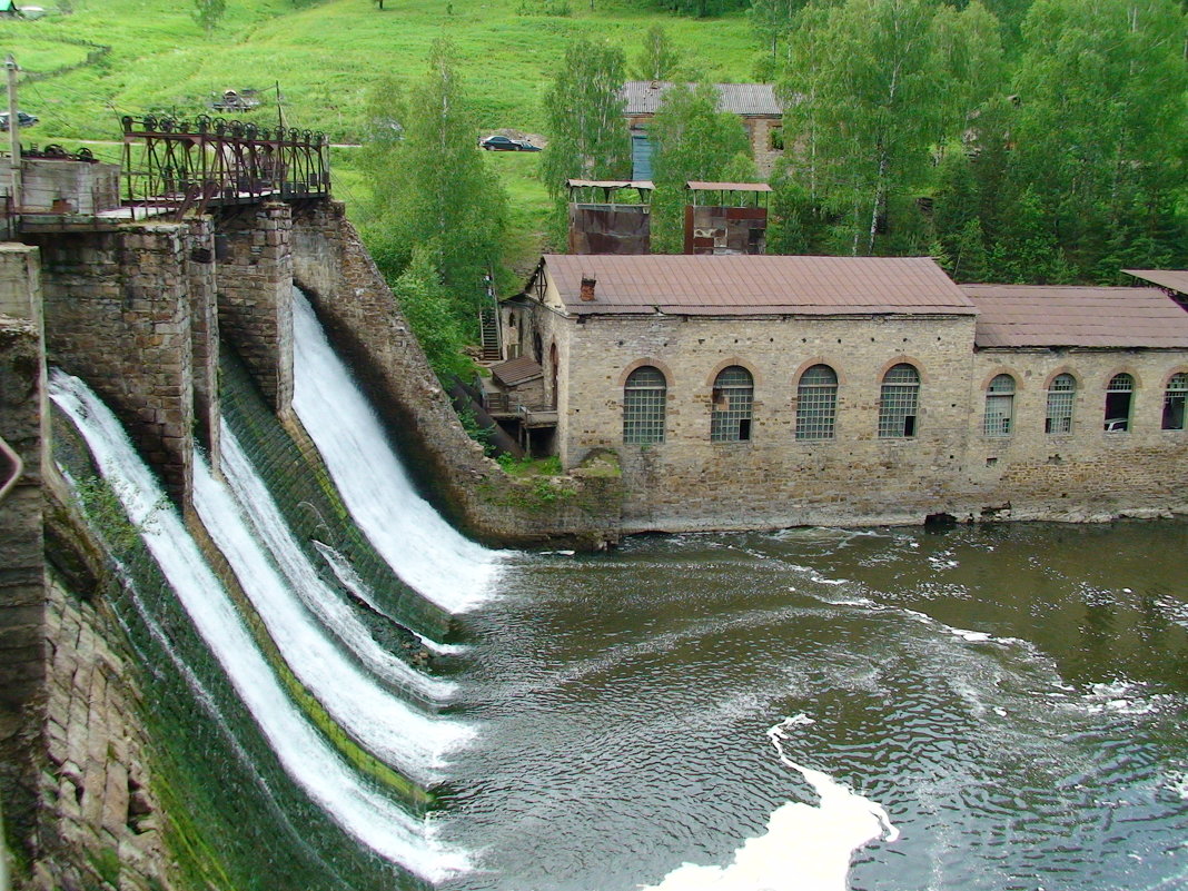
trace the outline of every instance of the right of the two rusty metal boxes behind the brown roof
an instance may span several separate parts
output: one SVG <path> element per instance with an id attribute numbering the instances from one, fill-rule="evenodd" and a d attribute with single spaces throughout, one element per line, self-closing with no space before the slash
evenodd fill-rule
<path id="1" fill-rule="evenodd" d="M 687 254 L 762 254 L 767 246 L 766 183 L 689 182 Z"/>

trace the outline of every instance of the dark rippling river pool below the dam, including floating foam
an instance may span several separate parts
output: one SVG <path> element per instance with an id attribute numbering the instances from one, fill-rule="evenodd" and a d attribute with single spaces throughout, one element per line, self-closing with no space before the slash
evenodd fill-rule
<path id="1" fill-rule="evenodd" d="M 1186 554 L 1120 523 L 512 557 L 465 617 L 447 886 L 1188 887 Z"/>

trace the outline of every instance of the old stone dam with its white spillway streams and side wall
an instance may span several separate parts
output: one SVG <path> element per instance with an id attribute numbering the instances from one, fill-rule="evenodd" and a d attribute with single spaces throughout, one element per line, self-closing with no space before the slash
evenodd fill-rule
<path id="1" fill-rule="evenodd" d="M 261 854 L 270 887 L 457 873 L 429 815 L 472 733 L 448 674 L 498 574 L 475 539 L 613 541 L 617 481 L 517 497 L 328 197 L 34 219 L 0 246 L 17 886 Z"/>

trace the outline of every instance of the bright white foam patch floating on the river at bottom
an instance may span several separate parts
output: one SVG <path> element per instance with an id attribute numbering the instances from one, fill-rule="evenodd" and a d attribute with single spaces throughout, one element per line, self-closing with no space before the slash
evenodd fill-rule
<path id="1" fill-rule="evenodd" d="M 781 763 L 804 777 L 820 803 L 781 805 L 767 820 L 767 832 L 747 839 L 726 866 L 684 864 L 645 891 L 846 891 L 853 853 L 877 839 L 899 838 L 880 804 L 784 753 L 791 728 L 807 723 L 813 719 L 796 715 L 767 737 Z"/>

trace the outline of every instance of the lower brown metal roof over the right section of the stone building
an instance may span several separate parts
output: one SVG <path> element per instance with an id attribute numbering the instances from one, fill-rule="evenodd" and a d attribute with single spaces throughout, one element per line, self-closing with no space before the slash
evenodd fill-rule
<path id="1" fill-rule="evenodd" d="M 961 285 L 978 347 L 1188 348 L 1188 312 L 1155 287 Z"/>

